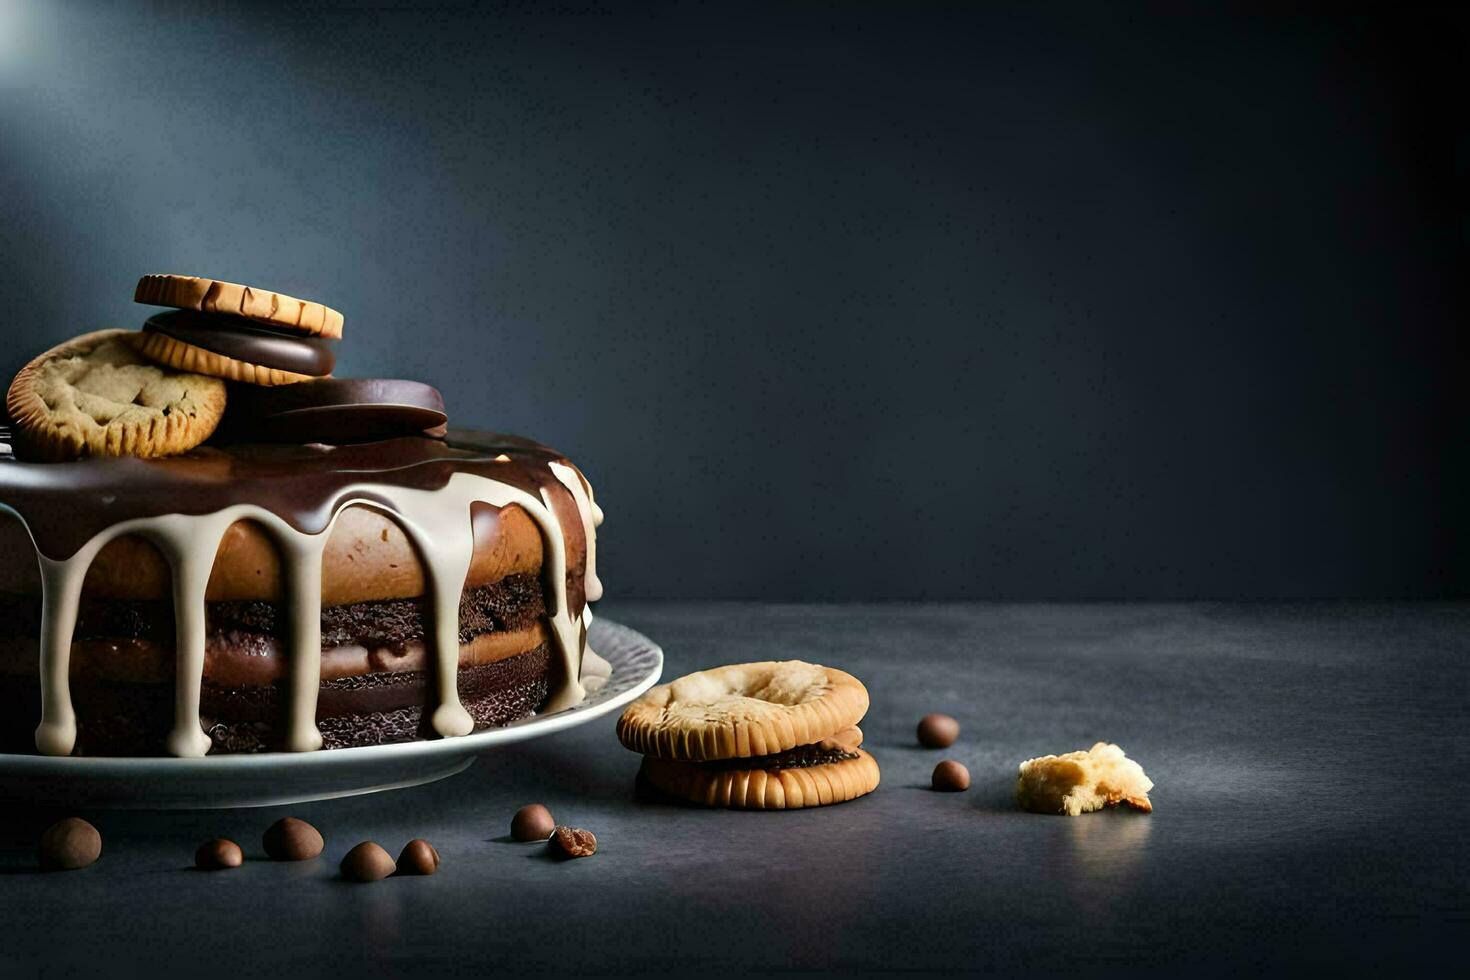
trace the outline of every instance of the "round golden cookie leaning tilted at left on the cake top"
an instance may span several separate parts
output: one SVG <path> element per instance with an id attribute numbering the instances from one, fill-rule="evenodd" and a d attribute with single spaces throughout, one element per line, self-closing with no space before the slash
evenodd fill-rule
<path id="1" fill-rule="evenodd" d="M 131 336 L 85 334 L 21 369 L 6 395 L 21 458 L 171 455 L 209 438 L 225 413 L 225 382 L 160 367 Z"/>

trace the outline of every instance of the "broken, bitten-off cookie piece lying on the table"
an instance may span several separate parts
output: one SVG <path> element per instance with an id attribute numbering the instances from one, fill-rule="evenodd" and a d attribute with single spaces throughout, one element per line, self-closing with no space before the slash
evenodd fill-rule
<path id="1" fill-rule="evenodd" d="M 1152 813 L 1148 790 L 1154 782 L 1116 745 L 1098 742 L 1086 752 L 1042 755 L 1020 764 L 1016 801 L 1022 810 L 1076 817 L 1092 810 L 1127 804 Z"/>

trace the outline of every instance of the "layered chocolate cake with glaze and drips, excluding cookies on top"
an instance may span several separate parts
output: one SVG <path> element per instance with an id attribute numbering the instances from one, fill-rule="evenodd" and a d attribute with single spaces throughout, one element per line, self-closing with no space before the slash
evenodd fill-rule
<path id="1" fill-rule="evenodd" d="M 600 519 L 560 454 L 478 432 L 3 460 L 3 748 L 300 751 L 566 707 Z"/>

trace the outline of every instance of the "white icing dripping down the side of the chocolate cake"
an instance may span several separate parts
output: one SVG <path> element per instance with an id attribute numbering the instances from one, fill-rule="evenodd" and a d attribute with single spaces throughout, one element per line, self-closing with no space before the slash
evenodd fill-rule
<path id="1" fill-rule="evenodd" d="M 360 498 L 359 494 L 387 500 L 388 505 Z M 138 535 L 154 542 L 172 569 L 176 673 L 175 717 L 168 749 L 184 757 L 198 757 L 209 751 L 210 739 L 198 716 L 204 673 L 204 591 L 219 541 L 237 520 L 259 522 L 272 532 L 281 548 L 288 569 L 293 661 L 285 743 L 291 751 L 320 748 L 316 698 L 322 657 L 322 550 L 337 517 L 353 505 L 372 507 L 400 523 L 423 563 L 434 616 L 431 657 L 437 682 L 437 704 L 429 713 L 429 724 L 438 735 L 467 735 L 475 724 L 459 699 L 459 602 L 475 548 L 470 526 L 470 505 L 475 502 L 492 507 L 517 504 L 537 522 L 547 552 L 542 563 L 550 597 L 547 617 L 562 661 L 560 683 L 553 689 L 545 710 L 557 711 L 582 701 L 584 644 L 581 623 L 572 619 L 566 597 L 566 539 L 544 489 L 541 500 L 537 500 L 507 483 L 460 472 L 438 491 L 362 483 L 347 488 L 338 500 L 326 527 L 316 535 L 297 530 L 262 507 L 237 504 L 212 514 L 163 514 L 122 522 L 97 533 L 62 561 L 47 558 L 37 550 L 41 570 L 41 723 L 35 730 L 37 751 L 43 755 L 71 755 L 76 745 L 76 714 L 68 671 L 81 586 L 97 552 L 122 535 Z M 25 517 L 13 508 L 0 504 L 0 510 L 25 523 Z M 591 541 L 588 533 L 589 548 Z M 592 657 L 606 663 L 595 654 Z M 597 673 L 600 671 L 592 671 L 594 676 Z"/>

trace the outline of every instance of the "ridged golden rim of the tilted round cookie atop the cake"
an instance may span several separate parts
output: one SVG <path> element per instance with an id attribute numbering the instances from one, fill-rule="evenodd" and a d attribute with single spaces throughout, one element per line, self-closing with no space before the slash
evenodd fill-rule
<path id="1" fill-rule="evenodd" d="M 35 391 L 35 376 L 50 360 L 87 354 L 104 342 L 128 341 L 132 331 L 94 331 L 57 344 L 44 354 L 32 357 L 16 373 L 6 392 L 6 411 L 15 425 L 12 439 L 24 460 L 60 463 L 82 455 L 173 455 L 187 453 L 215 432 L 225 414 L 225 383 L 218 378 L 200 376 L 212 382 L 213 392 L 201 392 L 198 414 L 171 413 L 154 419 L 148 426 L 98 425 L 85 432 L 74 422 L 57 423 L 46 401 Z M 141 356 L 140 356 L 141 357 Z M 188 373 L 188 372 L 184 372 Z"/>

